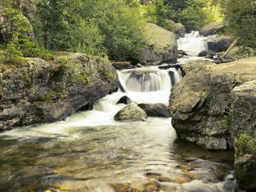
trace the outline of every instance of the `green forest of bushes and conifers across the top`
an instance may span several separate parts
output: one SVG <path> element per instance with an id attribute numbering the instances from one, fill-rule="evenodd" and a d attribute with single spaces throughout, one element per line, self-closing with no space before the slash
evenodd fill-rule
<path id="1" fill-rule="evenodd" d="M 5 22 L 14 26 L 2 37 L 1 49 L 16 62 L 32 55 L 49 59 L 54 51 L 134 60 L 145 47 L 146 23 L 170 31 L 182 23 L 190 32 L 224 21 L 224 33 L 255 49 L 250 0 L 1 0 L 0 6 Z"/>

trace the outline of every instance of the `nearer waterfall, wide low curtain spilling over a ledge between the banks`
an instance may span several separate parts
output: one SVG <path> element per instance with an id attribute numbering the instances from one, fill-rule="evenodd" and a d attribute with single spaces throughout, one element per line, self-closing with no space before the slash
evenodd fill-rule
<path id="1" fill-rule="evenodd" d="M 179 69 L 159 70 L 148 67 L 118 71 L 118 76 L 123 90 L 134 92 L 170 91 L 171 86 L 182 78 Z"/>

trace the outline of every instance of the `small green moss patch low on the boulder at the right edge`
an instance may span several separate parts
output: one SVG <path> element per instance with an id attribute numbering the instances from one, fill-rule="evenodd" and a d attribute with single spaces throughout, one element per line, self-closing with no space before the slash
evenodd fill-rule
<path id="1" fill-rule="evenodd" d="M 254 138 L 256 135 L 251 136 L 249 134 L 240 134 L 236 146 L 236 156 L 242 155 L 242 154 L 256 154 L 256 141 Z"/>

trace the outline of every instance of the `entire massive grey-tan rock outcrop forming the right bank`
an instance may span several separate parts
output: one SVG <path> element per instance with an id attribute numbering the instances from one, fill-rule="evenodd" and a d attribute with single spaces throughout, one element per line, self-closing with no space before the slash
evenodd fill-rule
<path id="1" fill-rule="evenodd" d="M 233 148 L 239 184 L 256 189 L 251 171 L 256 167 L 256 58 L 222 65 L 192 62 L 182 68 L 186 76 L 170 95 L 174 129 L 180 138 L 210 150 Z"/>

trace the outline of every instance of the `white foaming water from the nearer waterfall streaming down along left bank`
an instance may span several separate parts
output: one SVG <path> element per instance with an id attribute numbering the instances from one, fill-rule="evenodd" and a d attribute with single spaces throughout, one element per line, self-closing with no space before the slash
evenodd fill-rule
<path id="1" fill-rule="evenodd" d="M 135 103 L 163 103 L 168 105 L 170 97 L 171 77 L 174 75 L 174 82 L 181 80 L 180 70 L 159 70 L 157 67 L 145 67 L 137 70 L 118 71 L 119 80 L 126 90 L 123 93 L 109 94 L 105 98 L 94 103 L 94 110 L 83 111 L 66 118 L 62 122 L 40 124 L 6 131 L 0 136 L 8 138 L 30 138 L 30 137 L 67 137 L 73 135 L 74 130 L 83 126 L 106 126 L 127 124 L 127 122 L 115 122 L 114 115 L 124 107 L 124 104 L 116 104 L 122 96 L 128 96 Z M 136 74 L 137 73 L 137 74 Z M 151 123 L 154 123 L 151 119 Z M 158 120 L 156 120 L 158 123 Z"/>

